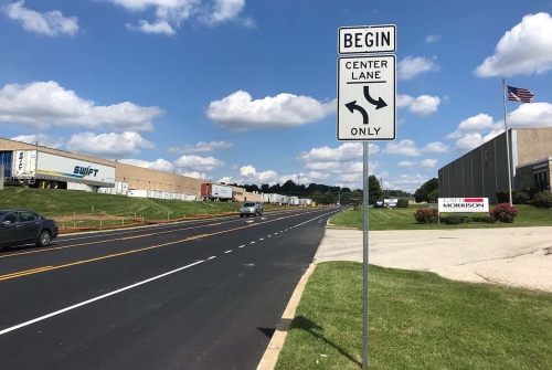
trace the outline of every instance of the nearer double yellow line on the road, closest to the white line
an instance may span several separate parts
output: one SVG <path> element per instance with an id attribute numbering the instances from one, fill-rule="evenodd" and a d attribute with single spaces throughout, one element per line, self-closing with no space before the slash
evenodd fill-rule
<path id="1" fill-rule="evenodd" d="M 130 250 L 130 251 L 126 251 L 126 252 L 108 254 L 108 255 L 105 255 L 105 256 L 89 258 L 89 260 L 76 261 L 76 262 L 72 262 L 72 263 L 67 263 L 67 264 L 63 264 L 63 265 L 44 266 L 44 267 L 38 267 L 38 268 L 33 268 L 33 269 L 26 269 L 26 271 L 22 271 L 22 272 L 18 272 L 18 273 L 11 273 L 11 274 L 7 274 L 7 275 L 0 275 L 0 281 L 7 281 L 7 279 L 10 279 L 10 278 L 17 278 L 17 277 L 20 277 L 20 276 L 39 274 L 39 273 L 46 272 L 46 271 L 60 269 L 60 268 L 65 268 L 65 267 L 75 266 L 75 265 L 82 265 L 82 264 L 91 263 L 91 262 L 95 262 L 95 261 L 102 261 L 102 260 L 118 257 L 118 256 L 121 256 L 121 255 L 127 255 L 127 254 L 132 254 L 132 253 L 138 253 L 138 252 L 150 251 L 150 250 L 159 249 L 159 247 L 167 246 L 167 245 L 174 245 L 174 244 L 179 244 L 179 243 L 185 243 L 185 242 L 189 242 L 189 241 L 193 241 L 193 240 L 198 240 L 198 239 L 203 239 L 203 237 L 208 237 L 208 236 L 213 236 L 213 235 L 219 235 L 219 234 L 224 234 L 224 233 L 229 233 L 229 232 L 233 232 L 233 231 L 237 231 L 237 230 L 242 230 L 242 229 L 248 229 L 248 228 L 253 228 L 253 226 L 259 226 L 259 225 L 263 225 L 263 224 L 268 223 L 268 222 L 275 222 L 275 221 L 278 221 L 278 220 L 285 220 L 285 219 L 289 219 L 289 218 L 297 216 L 297 215 L 300 215 L 300 214 L 294 214 L 294 215 L 290 215 L 290 216 L 282 216 L 282 218 L 277 218 L 277 219 L 274 219 L 274 220 L 270 220 L 270 221 L 267 221 L 267 222 L 263 222 L 263 223 L 247 224 L 247 225 L 244 225 L 244 226 L 240 226 L 240 228 L 235 228 L 235 229 L 229 229 L 229 230 L 223 230 L 223 231 L 217 231 L 217 232 L 210 233 L 210 234 L 200 234 L 200 235 L 189 236 L 189 237 L 185 237 L 185 239 L 182 239 L 182 240 L 178 240 L 178 241 L 173 241 L 173 242 L 167 242 L 167 243 L 163 243 L 163 244 L 157 244 L 157 245 L 146 246 L 146 247 L 141 247 L 141 249 L 138 249 L 138 250 Z M 151 234 L 149 234 L 149 235 L 151 235 Z M 120 239 L 117 239 L 117 240 L 120 240 Z M 65 246 L 65 247 L 68 247 L 68 246 Z"/>

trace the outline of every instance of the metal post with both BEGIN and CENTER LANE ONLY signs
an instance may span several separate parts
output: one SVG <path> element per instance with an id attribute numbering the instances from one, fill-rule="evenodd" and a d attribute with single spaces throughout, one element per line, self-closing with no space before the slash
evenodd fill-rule
<path id="1" fill-rule="evenodd" d="M 396 138 L 396 27 L 342 27 L 338 31 L 337 139 L 362 141 L 363 151 L 363 338 L 362 366 L 368 368 L 369 339 L 369 140 Z"/>

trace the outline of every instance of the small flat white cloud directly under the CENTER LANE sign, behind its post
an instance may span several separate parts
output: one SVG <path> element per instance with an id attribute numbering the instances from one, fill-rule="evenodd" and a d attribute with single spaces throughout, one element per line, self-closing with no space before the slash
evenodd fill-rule
<path id="1" fill-rule="evenodd" d="M 370 155 L 375 155 L 380 147 L 375 144 L 369 144 L 368 151 Z M 344 162 L 354 159 L 361 159 L 363 154 L 362 144 L 346 142 L 337 148 L 323 146 L 321 148 L 312 148 L 310 151 L 300 152 L 297 160 L 307 162 Z"/>

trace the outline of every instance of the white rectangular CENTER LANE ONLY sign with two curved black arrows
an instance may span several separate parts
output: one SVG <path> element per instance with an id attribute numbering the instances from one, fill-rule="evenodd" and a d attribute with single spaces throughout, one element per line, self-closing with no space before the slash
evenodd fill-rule
<path id="1" fill-rule="evenodd" d="M 395 55 L 338 59 L 338 140 L 394 140 Z"/>

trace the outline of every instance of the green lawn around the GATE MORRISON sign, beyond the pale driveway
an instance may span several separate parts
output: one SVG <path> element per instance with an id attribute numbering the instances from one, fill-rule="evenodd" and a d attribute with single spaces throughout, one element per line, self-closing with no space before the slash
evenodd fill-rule
<path id="1" fill-rule="evenodd" d="M 461 223 L 458 225 L 440 224 L 418 224 L 414 220 L 414 213 L 418 208 L 426 208 L 427 204 L 411 204 L 408 208 L 374 209 L 370 207 L 369 221 L 370 230 L 435 230 L 435 229 L 480 229 L 480 228 L 511 228 L 511 226 L 550 226 L 552 225 L 552 210 L 538 209 L 533 205 L 519 204 L 518 216 L 513 223 L 495 222 L 488 223 Z M 492 209 L 492 205 L 490 207 Z M 452 213 L 442 213 L 442 216 L 452 215 Z M 475 216 L 485 216 L 486 213 L 474 213 Z M 362 210 L 346 210 L 333 215 L 330 224 L 337 226 L 363 229 Z"/>

